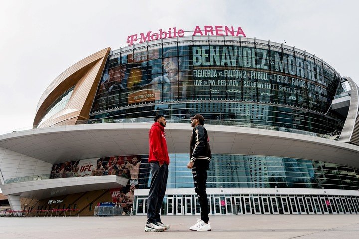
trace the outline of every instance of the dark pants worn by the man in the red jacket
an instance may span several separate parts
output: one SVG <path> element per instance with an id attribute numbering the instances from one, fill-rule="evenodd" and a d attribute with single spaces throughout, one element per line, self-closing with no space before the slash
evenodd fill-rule
<path id="1" fill-rule="evenodd" d="M 147 199 L 147 221 L 151 223 L 161 222 L 160 209 L 163 198 L 165 197 L 168 165 L 163 164 L 161 167 L 158 162 L 150 163 L 151 166 L 151 185 Z"/>

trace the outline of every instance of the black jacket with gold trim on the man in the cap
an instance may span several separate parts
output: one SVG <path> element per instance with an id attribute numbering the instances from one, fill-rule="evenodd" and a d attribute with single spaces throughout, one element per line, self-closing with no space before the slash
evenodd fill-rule
<path id="1" fill-rule="evenodd" d="M 197 165 L 208 165 L 212 158 L 208 133 L 202 125 L 197 125 L 193 128 L 190 140 L 189 157 L 194 161 L 194 164 Z"/>

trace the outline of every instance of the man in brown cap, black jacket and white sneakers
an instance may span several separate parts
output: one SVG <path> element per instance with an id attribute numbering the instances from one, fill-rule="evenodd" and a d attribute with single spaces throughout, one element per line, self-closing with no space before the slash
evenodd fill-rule
<path id="1" fill-rule="evenodd" d="M 198 195 L 201 208 L 201 218 L 189 229 L 192 231 L 211 231 L 209 223 L 208 197 L 206 192 L 207 170 L 212 158 L 207 130 L 203 127 L 204 117 L 195 115 L 191 117 L 191 126 L 193 128 L 189 157 L 190 162 L 187 168 L 192 169 L 194 190 Z"/>

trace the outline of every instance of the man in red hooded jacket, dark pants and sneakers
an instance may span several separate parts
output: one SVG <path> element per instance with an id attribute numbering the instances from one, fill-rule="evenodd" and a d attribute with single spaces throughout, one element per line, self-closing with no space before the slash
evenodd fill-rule
<path id="1" fill-rule="evenodd" d="M 162 232 L 170 229 L 169 225 L 161 222 L 160 209 L 165 196 L 168 165 L 170 158 L 167 152 L 165 135 L 166 119 L 163 115 L 154 118 L 149 133 L 149 163 L 151 167 L 151 185 L 147 199 L 147 222 L 145 232 Z"/>

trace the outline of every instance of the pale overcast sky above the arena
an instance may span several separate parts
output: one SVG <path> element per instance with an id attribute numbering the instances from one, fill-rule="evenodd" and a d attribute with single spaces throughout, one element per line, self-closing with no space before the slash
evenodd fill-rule
<path id="1" fill-rule="evenodd" d="M 247 37 L 307 50 L 359 82 L 359 3 L 352 0 L 0 0 L 0 135 L 29 129 L 68 67 L 128 35 L 240 26 Z M 354 43 L 353 43 L 354 41 Z"/>

